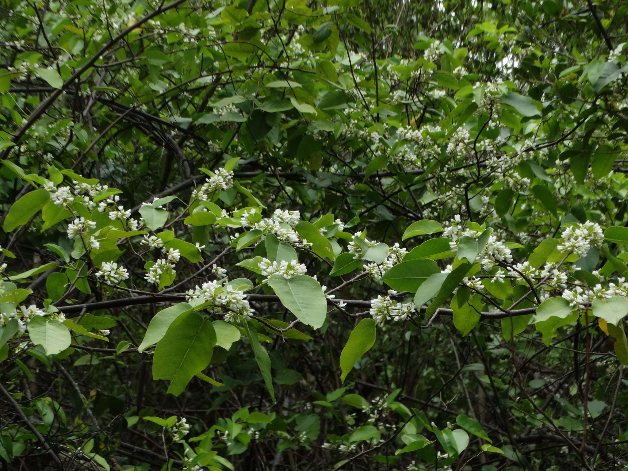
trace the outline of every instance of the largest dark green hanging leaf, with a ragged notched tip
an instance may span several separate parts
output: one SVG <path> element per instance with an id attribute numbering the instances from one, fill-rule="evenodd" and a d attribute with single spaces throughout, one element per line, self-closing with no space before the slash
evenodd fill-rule
<path id="1" fill-rule="evenodd" d="M 183 393 L 190 379 L 212 360 L 216 334 L 210 318 L 195 312 L 181 314 L 157 343 L 153 379 L 170 381 L 168 393 Z"/>

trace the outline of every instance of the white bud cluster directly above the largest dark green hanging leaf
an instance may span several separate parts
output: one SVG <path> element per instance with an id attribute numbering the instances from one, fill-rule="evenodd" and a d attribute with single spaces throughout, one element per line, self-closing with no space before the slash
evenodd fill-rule
<path id="1" fill-rule="evenodd" d="M 224 280 L 227 283 L 227 280 Z M 194 290 L 188 291 L 188 301 L 202 299 L 212 306 L 207 310 L 212 314 L 224 314 L 227 322 L 236 322 L 251 318 L 253 310 L 249 301 L 244 298 L 243 291 L 236 290 L 228 284 L 221 284 L 222 281 L 207 281 L 202 286 L 196 286 Z"/>

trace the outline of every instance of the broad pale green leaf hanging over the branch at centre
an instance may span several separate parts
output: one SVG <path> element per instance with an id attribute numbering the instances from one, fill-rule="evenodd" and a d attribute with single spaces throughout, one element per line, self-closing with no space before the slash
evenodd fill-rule
<path id="1" fill-rule="evenodd" d="M 318 281 L 305 274 L 290 279 L 274 274 L 268 278 L 268 284 L 301 322 L 313 328 L 322 327 L 327 318 L 327 300 Z"/>

